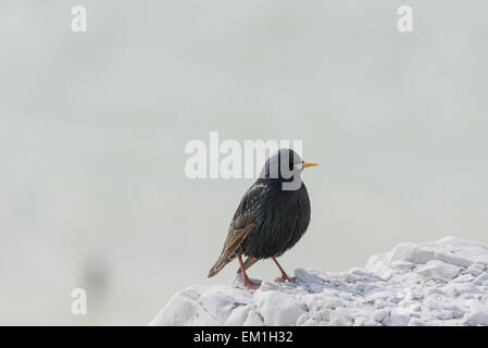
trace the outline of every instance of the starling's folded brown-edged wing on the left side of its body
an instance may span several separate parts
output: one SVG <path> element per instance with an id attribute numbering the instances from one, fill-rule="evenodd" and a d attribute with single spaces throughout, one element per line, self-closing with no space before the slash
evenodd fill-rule
<path id="1" fill-rule="evenodd" d="M 222 254 L 212 270 L 210 270 L 209 277 L 220 272 L 236 257 L 237 249 L 255 226 L 258 215 L 261 211 L 260 204 L 263 203 L 263 197 L 266 190 L 266 185 L 254 184 L 242 197 L 242 200 L 234 214 L 234 219 L 230 222 Z"/>

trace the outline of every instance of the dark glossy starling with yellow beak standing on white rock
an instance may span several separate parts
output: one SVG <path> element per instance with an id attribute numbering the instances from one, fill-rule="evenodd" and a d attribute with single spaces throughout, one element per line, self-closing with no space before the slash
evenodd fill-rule
<path id="1" fill-rule="evenodd" d="M 301 174 L 318 163 L 304 162 L 292 149 L 279 149 L 266 161 L 253 185 L 246 191 L 230 221 L 221 256 L 208 277 L 235 260 L 237 275 L 249 289 L 260 287 L 246 270 L 259 260 L 272 259 L 281 272 L 276 282 L 293 282 L 276 258 L 292 248 L 306 232 L 311 219 L 310 199 Z M 247 260 L 242 262 L 242 257 Z"/>

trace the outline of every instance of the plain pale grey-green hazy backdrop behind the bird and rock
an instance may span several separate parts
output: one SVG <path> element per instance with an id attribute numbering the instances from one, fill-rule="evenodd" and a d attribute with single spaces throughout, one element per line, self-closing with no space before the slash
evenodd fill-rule
<path id="1" fill-rule="evenodd" d="M 290 273 L 363 266 L 403 241 L 488 244 L 487 13 L 0 0 L 0 324 L 146 325 L 175 291 L 230 282 L 237 262 L 205 276 L 252 181 L 186 178 L 185 144 L 210 130 L 301 139 L 322 164 L 304 175 L 312 222 L 281 259 Z M 86 316 L 71 313 L 75 287 Z"/>

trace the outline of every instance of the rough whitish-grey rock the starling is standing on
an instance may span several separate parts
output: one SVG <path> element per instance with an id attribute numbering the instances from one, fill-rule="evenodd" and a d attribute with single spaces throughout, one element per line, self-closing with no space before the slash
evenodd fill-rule
<path id="1" fill-rule="evenodd" d="M 401 244 L 343 273 L 298 269 L 258 290 L 195 285 L 150 325 L 488 325 L 488 246 Z"/>

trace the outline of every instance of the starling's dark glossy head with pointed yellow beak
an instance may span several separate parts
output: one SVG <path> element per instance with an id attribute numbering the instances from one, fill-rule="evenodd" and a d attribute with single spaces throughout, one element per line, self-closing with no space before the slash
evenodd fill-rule
<path id="1" fill-rule="evenodd" d="M 278 152 L 266 160 L 260 178 L 280 183 L 284 190 L 296 190 L 301 186 L 303 170 L 315 165 L 318 165 L 318 163 L 304 162 L 291 149 L 279 149 Z"/>

